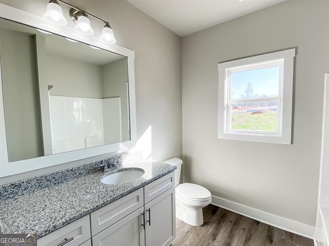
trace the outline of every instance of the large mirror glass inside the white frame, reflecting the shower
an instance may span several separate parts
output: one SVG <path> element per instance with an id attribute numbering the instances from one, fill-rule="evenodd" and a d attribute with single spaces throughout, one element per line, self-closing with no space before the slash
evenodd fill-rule
<path id="1" fill-rule="evenodd" d="M 130 140 L 127 57 L 73 41 L 0 20 L 10 162 Z"/>

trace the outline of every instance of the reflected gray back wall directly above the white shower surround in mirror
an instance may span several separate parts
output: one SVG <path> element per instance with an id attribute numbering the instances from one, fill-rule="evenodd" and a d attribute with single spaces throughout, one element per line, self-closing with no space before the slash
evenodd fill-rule
<path id="1" fill-rule="evenodd" d="M 47 52 L 50 95 L 102 98 L 101 66 Z"/>

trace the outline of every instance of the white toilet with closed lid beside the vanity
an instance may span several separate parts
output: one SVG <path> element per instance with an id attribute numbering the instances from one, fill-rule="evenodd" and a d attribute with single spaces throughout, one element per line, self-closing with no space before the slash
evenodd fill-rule
<path id="1" fill-rule="evenodd" d="M 191 226 L 201 226 L 204 223 L 202 209 L 211 202 L 211 193 L 194 183 L 179 184 L 182 160 L 176 157 L 163 161 L 176 166 L 176 217 Z"/>

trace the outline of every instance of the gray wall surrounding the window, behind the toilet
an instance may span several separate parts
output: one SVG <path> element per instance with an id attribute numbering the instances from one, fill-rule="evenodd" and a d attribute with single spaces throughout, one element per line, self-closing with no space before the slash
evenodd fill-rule
<path id="1" fill-rule="evenodd" d="M 315 225 L 327 1 L 288 1 L 182 38 L 184 181 Z M 291 146 L 217 139 L 217 64 L 297 47 Z"/>

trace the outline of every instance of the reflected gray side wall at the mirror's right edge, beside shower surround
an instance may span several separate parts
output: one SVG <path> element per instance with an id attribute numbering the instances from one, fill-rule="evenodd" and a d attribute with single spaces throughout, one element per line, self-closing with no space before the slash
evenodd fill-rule
<path id="1" fill-rule="evenodd" d="M 102 66 L 102 90 L 103 98 L 120 97 L 121 101 L 121 128 L 122 141 L 130 139 L 129 134 L 129 118 L 127 104 L 127 86 L 128 71 L 127 58 L 113 61 Z"/>

